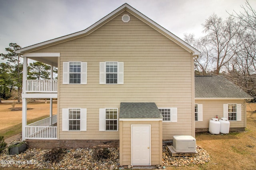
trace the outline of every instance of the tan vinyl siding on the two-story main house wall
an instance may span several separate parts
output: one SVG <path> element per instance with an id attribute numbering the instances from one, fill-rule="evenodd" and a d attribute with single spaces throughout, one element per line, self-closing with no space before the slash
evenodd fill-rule
<path id="1" fill-rule="evenodd" d="M 163 123 L 163 139 L 193 135 L 191 114 L 194 74 L 191 53 L 124 12 L 90 35 L 34 52 L 58 52 L 59 139 L 119 139 L 119 131 L 99 131 L 99 108 L 119 108 L 120 102 L 155 102 L 178 107 L 178 122 Z M 63 62 L 87 62 L 87 84 L 62 84 Z M 124 62 L 124 84 L 99 84 L 99 63 Z M 193 106 L 192 106 L 193 105 Z M 63 132 L 62 108 L 87 108 L 87 131 Z M 193 122 L 194 123 L 194 122 Z"/>

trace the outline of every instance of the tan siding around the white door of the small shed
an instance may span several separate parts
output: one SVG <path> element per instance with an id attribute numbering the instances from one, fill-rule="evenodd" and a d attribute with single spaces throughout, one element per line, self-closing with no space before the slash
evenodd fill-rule
<path id="1" fill-rule="evenodd" d="M 120 165 L 131 164 L 131 125 L 151 125 L 151 164 L 162 164 L 162 121 L 122 121 L 123 133 L 121 135 L 122 139 L 120 139 L 122 141 L 122 144 L 120 143 Z"/>

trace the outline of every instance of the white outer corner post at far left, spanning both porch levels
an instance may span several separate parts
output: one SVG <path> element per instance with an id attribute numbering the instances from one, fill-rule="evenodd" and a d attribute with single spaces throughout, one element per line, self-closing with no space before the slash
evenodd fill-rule
<path id="1" fill-rule="evenodd" d="M 26 98 L 24 98 L 24 95 L 26 93 L 26 80 L 28 75 L 28 59 L 27 57 L 24 57 L 23 59 L 23 77 L 22 77 L 22 141 L 25 141 L 26 139 L 26 125 L 27 125 L 27 101 Z"/>

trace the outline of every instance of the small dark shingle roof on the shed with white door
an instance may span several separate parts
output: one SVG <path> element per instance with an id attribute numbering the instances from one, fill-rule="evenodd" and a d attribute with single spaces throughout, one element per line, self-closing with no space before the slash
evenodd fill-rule
<path id="1" fill-rule="evenodd" d="M 120 104 L 119 118 L 160 118 L 163 116 L 155 103 L 124 103 Z"/>

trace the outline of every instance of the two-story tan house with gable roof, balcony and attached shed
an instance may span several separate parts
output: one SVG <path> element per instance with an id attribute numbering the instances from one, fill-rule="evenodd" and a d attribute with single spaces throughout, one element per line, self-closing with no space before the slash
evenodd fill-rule
<path id="1" fill-rule="evenodd" d="M 24 57 L 28 145 L 117 146 L 121 166 L 155 165 L 162 164 L 162 140 L 195 136 L 200 52 L 128 4 L 83 31 L 16 53 Z M 58 80 L 27 80 L 28 59 L 58 67 Z M 27 98 L 58 98 L 57 114 L 27 125 Z"/>

